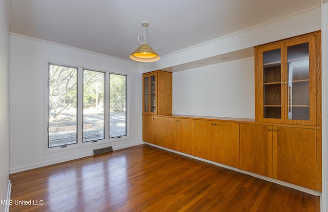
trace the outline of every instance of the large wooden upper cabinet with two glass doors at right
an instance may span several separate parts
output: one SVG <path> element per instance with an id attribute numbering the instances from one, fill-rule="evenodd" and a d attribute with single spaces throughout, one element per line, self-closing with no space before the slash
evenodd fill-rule
<path id="1" fill-rule="evenodd" d="M 320 125 L 320 32 L 255 47 L 256 121 Z"/>

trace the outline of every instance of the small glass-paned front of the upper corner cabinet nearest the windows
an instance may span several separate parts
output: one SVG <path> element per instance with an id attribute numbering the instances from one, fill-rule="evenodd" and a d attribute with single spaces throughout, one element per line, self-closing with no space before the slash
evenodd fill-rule
<path id="1" fill-rule="evenodd" d="M 157 73 L 144 75 L 143 77 L 143 113 L 157 114 L 156 80 Z"/>

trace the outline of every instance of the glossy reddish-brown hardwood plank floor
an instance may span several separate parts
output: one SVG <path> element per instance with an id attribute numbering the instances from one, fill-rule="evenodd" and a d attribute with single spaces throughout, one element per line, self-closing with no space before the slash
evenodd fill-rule
<path id="1" fill-rule="evenodd" d="M 147 144 L 10 179 L 10 211 L 320 211 L 319 197 Z"/>

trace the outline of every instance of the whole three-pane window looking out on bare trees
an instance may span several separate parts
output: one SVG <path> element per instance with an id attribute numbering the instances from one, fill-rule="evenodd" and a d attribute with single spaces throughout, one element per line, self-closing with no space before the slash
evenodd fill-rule
<path id="1" fill-rule="evenodd" d="M 48 67 L 48 148 L 127 136 L 126 75 Z"/>

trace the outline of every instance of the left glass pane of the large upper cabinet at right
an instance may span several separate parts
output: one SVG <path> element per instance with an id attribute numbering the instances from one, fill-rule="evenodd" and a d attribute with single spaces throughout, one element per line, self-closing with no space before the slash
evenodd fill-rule
<path id="1" fill-rule="evenodd" d="M 281 118 L 281 52 L 263 52 L 263 117 Z"/>

